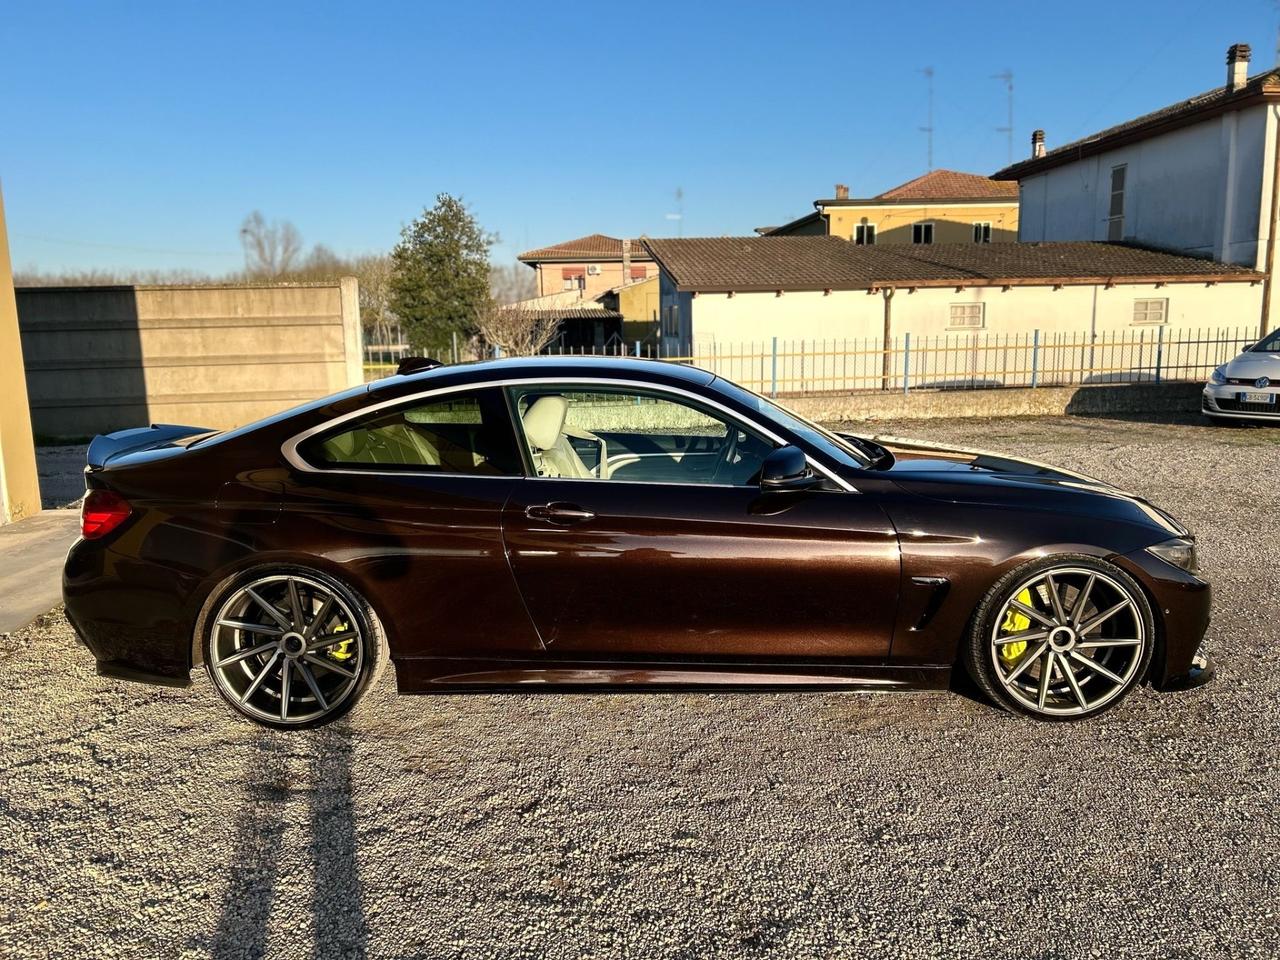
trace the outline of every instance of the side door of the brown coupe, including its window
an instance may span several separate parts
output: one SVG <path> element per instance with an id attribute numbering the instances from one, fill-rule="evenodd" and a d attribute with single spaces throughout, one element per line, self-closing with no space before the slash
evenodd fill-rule
<path id="1" fill-rule="evenodd" d="M 669 389 L 508 396 L 532 475 L 512 490 L 503 540 L 548 655 L 888 655 L 899 548 L 872 498 L 762 493 L 777 439 Z M 540 411 L 561 404 L 554 438 Z M 573 457 L 553 449 L 566 444 Z"/>

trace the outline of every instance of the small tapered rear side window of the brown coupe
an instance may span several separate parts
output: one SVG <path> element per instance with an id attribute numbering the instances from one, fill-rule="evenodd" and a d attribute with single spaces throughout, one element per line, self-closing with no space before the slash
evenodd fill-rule
<path id="1" fill-rule="evenodd" d="M 520 453 L 497 389 L 408 402 L 347 421 L 300 449 L 312 466 L 518 476 Z"/>

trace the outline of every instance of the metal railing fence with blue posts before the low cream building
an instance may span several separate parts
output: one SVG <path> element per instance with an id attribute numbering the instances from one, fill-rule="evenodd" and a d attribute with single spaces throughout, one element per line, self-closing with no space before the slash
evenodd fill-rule
<path id="1" fill-rule="evenodd" d="M 1204 380 L 1257 337 L 1253 326 L 714 343 L 664 355 L 652 344 L 554 349 L 572 356 L 639 356 L 690 364 L 768 396 L 915 389 Z M 402 355 L 403 356 L 403 355 Z M 366 366 L 384 376 L 394 367 Z"/>

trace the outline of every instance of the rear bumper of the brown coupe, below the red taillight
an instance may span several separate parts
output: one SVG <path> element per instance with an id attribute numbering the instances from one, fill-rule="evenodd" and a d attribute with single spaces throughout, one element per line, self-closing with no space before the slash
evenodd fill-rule
<path id="1" fill-rule="evenodd" d="M 191 682 L 191 625 L 172 586 L 172 571 L 97 541 L 76 541 L 63 567 L 63 600 L 101 676 L 166 686 Z"/>

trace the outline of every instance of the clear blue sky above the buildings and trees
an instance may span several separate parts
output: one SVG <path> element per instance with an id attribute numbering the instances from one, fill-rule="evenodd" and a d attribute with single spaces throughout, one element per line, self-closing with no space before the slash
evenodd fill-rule
<path id="1" fill-rule="evenodd" d="M 388 250 L 438 192 L 494 260 L 585 233 L 748 233 L 832 184 L 1005 165 L 1275 63 L 1276 5 L 216 4 L 12 0 L 0 183 L 15 269 L 242 266 L 253 209 Z"/>

